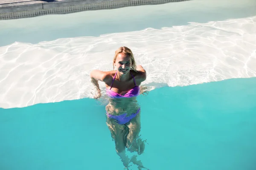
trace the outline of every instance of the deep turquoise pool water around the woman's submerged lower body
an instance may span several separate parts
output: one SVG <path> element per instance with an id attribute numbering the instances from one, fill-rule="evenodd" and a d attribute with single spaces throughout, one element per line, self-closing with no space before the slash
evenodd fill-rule
<path id="1" fill-rule="evenodd" d="M 255 99 L 256 78 L 140 95 L 138 159 L 150 170 L 255 170 Z M 0 170 L 123 169 L 104 113 L 89 98 L 0 108 Z"/>

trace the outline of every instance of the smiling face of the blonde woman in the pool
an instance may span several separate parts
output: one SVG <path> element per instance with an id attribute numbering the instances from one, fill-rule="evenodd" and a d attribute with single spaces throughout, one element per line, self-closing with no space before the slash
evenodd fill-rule
<path id="1" fill-rule="evenodd" d="M 122 74 L 126 74 L 131 70 L 131 57 L 129 55 L 119 53 L 116 56 L 116 69 Z"/>

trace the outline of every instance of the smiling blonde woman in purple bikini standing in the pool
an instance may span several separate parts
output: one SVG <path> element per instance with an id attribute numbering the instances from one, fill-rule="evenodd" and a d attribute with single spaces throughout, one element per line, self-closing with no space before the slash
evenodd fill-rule
<path id="1" fill-rule="evenodd" d="M 125 147 L 131 152 L 136 151 L 139 155 L 145 148 L 144 142 L 139 138 L 140 106 L 136 96 L 140 94 L 140 84 L 146 79 L 146 71 L 141 65 L 136 66 L 133 53 L 127 47 L 116 50 L 113 68 L 113 71 L 91 72 L 90 77 L 97 89 L 95 98 L 101 96 L 98 80 L 105 82 L 106 94 L 110 98 L 106 106 L 106 123 L 115 141 L 116 152 L 125 167 L 131 161 L 141 169 L 143 165 L 136 160 L 136 157 L 129 159 L 126 156 Z"/>

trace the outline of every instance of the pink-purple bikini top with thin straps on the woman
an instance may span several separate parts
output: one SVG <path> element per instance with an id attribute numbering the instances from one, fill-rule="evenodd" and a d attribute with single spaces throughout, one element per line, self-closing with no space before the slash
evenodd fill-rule
<path id="1" fill-rule="evenodd" d="M 117 71 L 116 71 L 116 73 L 117 73 Z M 130 72 L 130 73 L 131 73 L 131 72 Z M 134 76 L 133 76 L 132 74 L 131 74 L 131 76 L 132 76 L 133 79 L 134 79 Z M 118 93 L 116 93 L 116 92 L 114 92 L 114 91 L 111 91 L 111 88 L 112 88 L 113 81 L 114 81 L 115 77 L 116 77 L 116 74 L 115 74 L 115 76 L 114 76 L 114 78 L 113 78 L 113 80 L 112 80 L 110 89 L 107 89 L 107 90 L 106 90 L 106 94 L 107 94 L 108 96 L 110 96 L 111 98 L 122 98 L 122 97 L 130 98 L 130 97 L 138 96 L 138 95 L 140 94 L 140 87 L 136 85 L 135 79 L 134 79 L 134 84 L 135 84 L 134 88 L 132 88 L 131 90 L 129 90 L 126 94 L 121 95 L 121 94 L 118 94 Z"/>

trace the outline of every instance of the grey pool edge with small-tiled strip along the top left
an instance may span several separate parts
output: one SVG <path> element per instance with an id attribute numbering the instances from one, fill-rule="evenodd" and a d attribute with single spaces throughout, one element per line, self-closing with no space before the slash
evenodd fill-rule
<path id="1" fill-rule="evenodd" d="M 80 11 L 157 5 L 188 0 L 62 0 L 28 5 L 0 7 L 0 20 L 37 17 L 47 14 L 69 14 Z"/>

